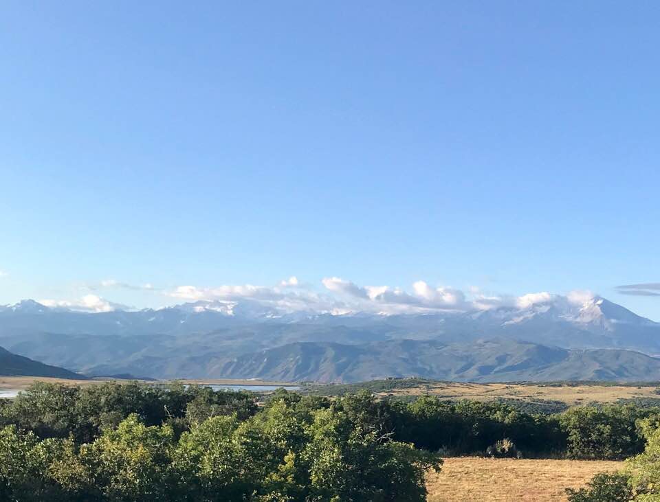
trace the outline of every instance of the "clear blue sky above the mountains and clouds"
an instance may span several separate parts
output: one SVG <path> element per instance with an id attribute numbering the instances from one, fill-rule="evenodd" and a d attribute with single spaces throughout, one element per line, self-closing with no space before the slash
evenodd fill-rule
<path id="1" fill-rule="evenodd" d="M 296 277 L 589 290 L 660 321 L 659 15 L 3 1 L 0 303 Z"/>

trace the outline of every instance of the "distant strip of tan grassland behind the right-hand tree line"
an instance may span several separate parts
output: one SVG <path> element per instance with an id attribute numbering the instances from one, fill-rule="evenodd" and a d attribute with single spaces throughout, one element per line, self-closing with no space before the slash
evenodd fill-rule
<path id="1" fill-rule="evenodd" d="M 589 402 L 617 402 L 619 399 L 660 398 L 655 385 L 543 385 L 532 383 L 425 383 L 409 389 L 392 389 L 380 396 L 419 396 L 428 394 L 443 399 L 487 401 L 496 398 L 555 400 L 569 406 Z"/>

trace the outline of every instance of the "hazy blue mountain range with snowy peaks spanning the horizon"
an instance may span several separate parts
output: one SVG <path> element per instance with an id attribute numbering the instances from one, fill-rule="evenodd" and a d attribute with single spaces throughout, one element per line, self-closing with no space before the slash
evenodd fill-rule
<path id="1" fill-rule="evenodd" d="M 602 297 L 423 312 L 311 312 L 259 301 L 76 312 L 0 307 L 0 345 L 87 375 L 356 381 L 660 380 L 660 323 Z"/>

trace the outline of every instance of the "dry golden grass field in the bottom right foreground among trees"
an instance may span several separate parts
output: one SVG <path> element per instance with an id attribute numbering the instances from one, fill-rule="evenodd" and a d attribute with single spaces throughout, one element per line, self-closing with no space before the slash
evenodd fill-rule
<path id="1" fill-rule="evenodd" d="M 623 462 L 598 460 L 445 459 L 427 478 L 428 502 L 565 501 L 565 488 L 580 488 L 597 472 Z"/>

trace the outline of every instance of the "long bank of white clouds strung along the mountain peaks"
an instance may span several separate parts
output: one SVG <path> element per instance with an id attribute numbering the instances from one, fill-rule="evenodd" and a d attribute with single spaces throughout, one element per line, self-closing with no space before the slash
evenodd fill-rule
<path id="1" fill-rule="evenodd" d="M 644 286 L 652 291 L 655 287 L 660 296 L 660 284 L 620 286 L 623 290 L 637 290 Z M 362 286 L 342 277 L 324 277 L 316 287 L 300 282 L 298 277 L 283 279 L 275 286 L 254 284 L 220 286 L 181 285 L 168 289 L 154 288 L 151 284 L 135 285 L 106 279 L 87 289 L 124 289 L 151 292 L 165 297 L 164 304 L 187 304 L 191 310 L 218 310 L 227 313 L 255 315 L 345 315 L 361 312 L 379 315 L 424 314 L 434 312 L 470 312 L 499 307 L 535 308 L 545 304 L 585 306 L 595 295 L 589 291 L 573 291 L 568 295 L 556 295 L 542 291 L 526 295 L 485 295 L 474 286 L 463 291 L 451 286 L 434 286 L 423 280 L 413 282 L 409 288 L 398 286 Z M 632 294 L 632 293 L 630 293 Z M 43 299 L 41 304 L 51 308 L 68 308 L 79 312 L 111 312 L 131 310 L 96 293 L 77 299 Z"/>

